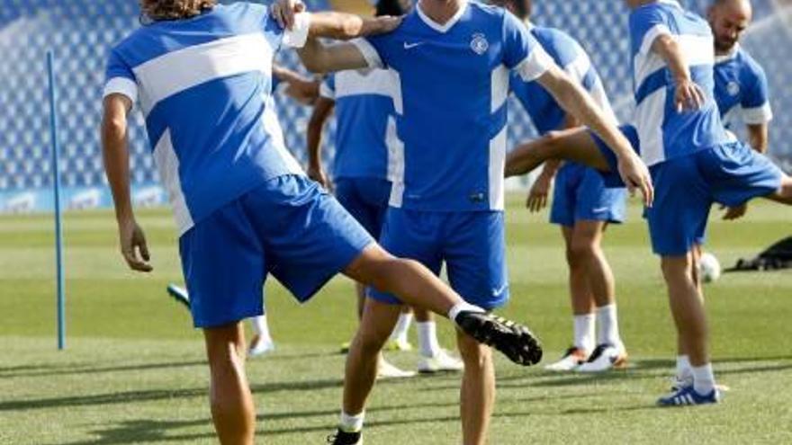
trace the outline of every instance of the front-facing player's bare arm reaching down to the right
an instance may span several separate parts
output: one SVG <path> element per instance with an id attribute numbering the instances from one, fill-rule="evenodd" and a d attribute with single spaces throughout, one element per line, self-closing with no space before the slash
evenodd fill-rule
<path id="1" fill-rule="evenodd" d="M 629 141 L 612 122 L 605 118 L 603 111 L 586 93 L 581 85 L 572 81 L 559 67 L 550 67 L 545 74 L 537 78 L 539 84 L 553 94 L 556 102 L 563 109 L 580 120 L 602 138 L 618 157 L 619 174 L 625 182 L 627 189 L 634 193 L 641 191 L 644 204 L 651 206 L 654 200 L 654 189 L 649 169 L 635 154 Z"/>

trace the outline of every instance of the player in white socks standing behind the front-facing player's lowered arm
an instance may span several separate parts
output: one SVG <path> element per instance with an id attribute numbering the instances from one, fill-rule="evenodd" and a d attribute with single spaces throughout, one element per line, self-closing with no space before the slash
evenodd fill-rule
<path id="1" fill-rule="evenodd" d="M 576 40 L 563 31 L 530 22 L 532 0 L 498 0 L 497 4 L 522 19 L 556 65 L 591 94 L 609 120 L 617 122 L 599 74 Z M 525 82 L 512 75 L 511 89 L 540 134 L 579 125 L 536 81 Z M 550 161 L 531 187 L 528 209 L 545 207 L 554 177 L 550 222 L 561 226 L 566 245 L 574 342 L 561 360 L 545 368 L 581 372 L 624 368 L 627 354 L 618 331 L 616 286 L 601 241 L 609 223 L 625 218 L 626 190 L 606 187 L 602 175 L 585 165 L 567 162 L 559 169 L 558 162 Z M 595 320 L 599 322 L 596 337 Z"/>

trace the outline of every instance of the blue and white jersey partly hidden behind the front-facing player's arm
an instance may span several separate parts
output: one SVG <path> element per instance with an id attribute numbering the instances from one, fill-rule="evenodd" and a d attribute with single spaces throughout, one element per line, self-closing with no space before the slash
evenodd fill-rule
<path id="1" fill-rule="evenodd" d="M 555 64 L 583 86 L 597 102 L 608 120 L 618 125 L 616 113 L 608 101 L 605 87 L 591 64 L 589 55 L 577 40 L 561 30 L 544 28 L 527 23 L 528 30 L 555 61 Z M 536 81 L 526 82 L 518 75 L 511 76 L 511 91 L 526 109 L 539 134 L 544 135 L 554 129 L 562 129 L 566 121 L 563 110 L 551 93 Z"/>

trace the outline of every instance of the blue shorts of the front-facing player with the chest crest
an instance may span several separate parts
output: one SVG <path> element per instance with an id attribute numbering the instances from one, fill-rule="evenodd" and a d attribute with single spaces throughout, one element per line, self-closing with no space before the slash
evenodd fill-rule
<path id="1" fill-rule="evenodd" d="M 390 208 L 381 243 L 391 254 L 419 261 L 436 275 L 445 262 L 451 287 L 471 304 L 489 310 L 509 300 L 502 211 Z M 370 296 L 401 303 L 383 292 L 372 291 Z"/>

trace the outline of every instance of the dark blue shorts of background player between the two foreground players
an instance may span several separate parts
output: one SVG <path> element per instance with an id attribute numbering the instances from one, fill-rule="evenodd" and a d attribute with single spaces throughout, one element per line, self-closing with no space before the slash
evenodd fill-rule
<path id="1" fill-rule="evenodd" d="M 336 178 L 336 199 L 374 238 L 383 231 L 391 182 L 379 178 Z"/>

